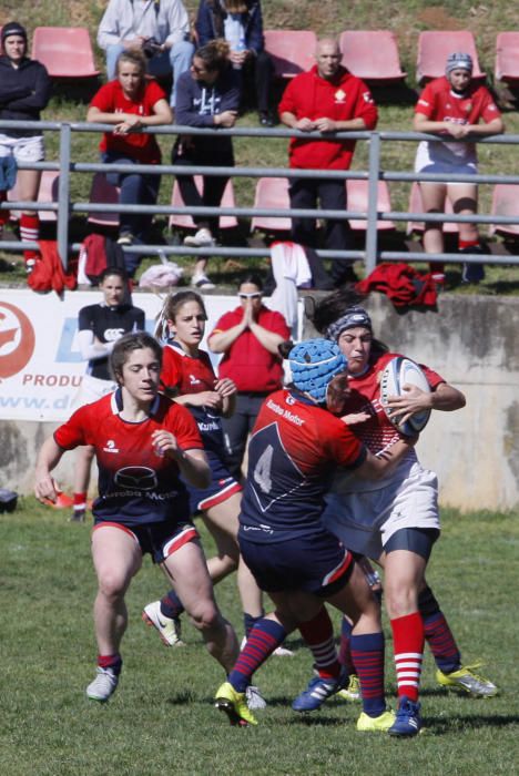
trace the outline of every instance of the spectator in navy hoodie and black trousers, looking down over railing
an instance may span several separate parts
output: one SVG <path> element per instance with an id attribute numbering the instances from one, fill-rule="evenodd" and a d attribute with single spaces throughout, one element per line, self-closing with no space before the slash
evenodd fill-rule
<path id="1" fill-rule="evenodd" d="M 228 60 L 228 43 L 214 40 L 197 49 L 189 73 L 179 80 L 176 121 L 186 126 L 234 126 L 240 105 L 240 83 L 236 71 Z M 172 152 L 172 163 L 183 165 L 234 166 L 231 137 L 181 135 Z M 203 176 L 203 193 L 196 188 L 193 175 L 176 175 L 182 198 L 190 207 L 217 207 L 222 201 L 227 175 Z M 214 245 L 213 234 L 217 217 L 195 216 L 194 235 L 184 239 L 184 245 L 207 247 Z M 214 288 L 205 274 L 206 258 L 195 264 L 192 285 L 201 290 Z"/>

